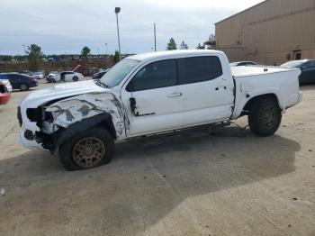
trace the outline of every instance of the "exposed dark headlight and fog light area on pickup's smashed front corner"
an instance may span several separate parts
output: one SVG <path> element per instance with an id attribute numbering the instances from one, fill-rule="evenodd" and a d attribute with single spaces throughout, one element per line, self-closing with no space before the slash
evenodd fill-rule
<path id="1" fill-rule="evenodd" d="M 53 134 L 53 116 L 44 110 L 43 107 L 28 108 L 26 110 L 27 118 L 40 128 L 40 132 L 32 132 L 26 130 L 23 134 L 24 138 L 28 141 L 38 142 L 43 149 L 52 150 L 54 147 L 54 134 Z M 50 124 L 50 125 L 49 125 Z"/>

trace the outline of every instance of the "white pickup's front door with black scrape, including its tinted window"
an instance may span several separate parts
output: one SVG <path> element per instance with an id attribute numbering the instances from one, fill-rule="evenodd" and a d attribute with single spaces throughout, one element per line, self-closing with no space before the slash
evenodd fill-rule
<path id="1" fill-rule="evenodd" d="M 130 115 L 128 136 L 163 132 L 178 123 L 183 93 L 177 86 L 176 59 L 159 60 L 139 68 L 123 89 L 122 100 Z"/>

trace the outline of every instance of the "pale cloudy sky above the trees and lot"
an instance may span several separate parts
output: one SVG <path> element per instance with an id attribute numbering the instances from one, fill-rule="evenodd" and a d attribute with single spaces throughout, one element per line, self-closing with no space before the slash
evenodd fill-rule
<path id="1" fill-rule="evenodd" d="M 114 7 L 121 7 L 121 53 L 157 50 L 175 39 L 190 49 L 215 33 L 214 23 L 262 0 L 0 0 L 0 54 L 23 55 L 23 44 L 44 54 L 93 54 L 118 49 Z"/>

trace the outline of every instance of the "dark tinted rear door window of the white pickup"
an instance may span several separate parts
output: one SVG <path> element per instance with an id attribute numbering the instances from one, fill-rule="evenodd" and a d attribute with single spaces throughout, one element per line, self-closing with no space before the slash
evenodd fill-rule
<path id="1" fill-rule="evenodd" d="M 181 85 L 209 81 L 223 74 L 218 57 L 195 57 L 179 61 Z"/>

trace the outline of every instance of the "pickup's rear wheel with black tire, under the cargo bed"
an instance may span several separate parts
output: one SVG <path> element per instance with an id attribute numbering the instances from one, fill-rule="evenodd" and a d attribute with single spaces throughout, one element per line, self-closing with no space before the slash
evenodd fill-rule
<path id="1" fill-rule="evenodd" d="M 261 137 L 274 135 L 279 129 L 282 114 L 273 97 L 254 101 L 248 114 L 248 124 L 252 132 Z"/>

